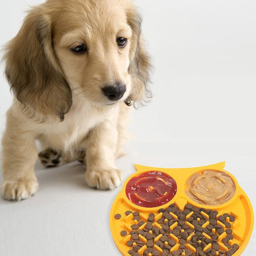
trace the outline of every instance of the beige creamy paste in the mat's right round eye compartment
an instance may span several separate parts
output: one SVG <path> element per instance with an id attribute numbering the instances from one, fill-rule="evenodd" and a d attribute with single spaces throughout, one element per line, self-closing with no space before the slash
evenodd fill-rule
<path id="1" fill-rule="evenodd" d="M 196 172 L 186 183 L 186 194 L 203 205 L 221 205 L 235 194 L 235 184 L 225 172 L 206 170 Z"/>

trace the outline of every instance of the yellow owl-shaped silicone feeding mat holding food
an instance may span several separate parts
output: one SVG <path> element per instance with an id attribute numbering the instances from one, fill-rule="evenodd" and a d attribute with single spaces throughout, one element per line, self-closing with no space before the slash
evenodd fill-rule
<path id="1" fill-rule="evenodd" d="M 186 255 L 234 255 L 234 256 L 239 256 L 242 254 L 244 251 L 246 245 L 249 242 L 250 236 L 252 234 L 253 230 L 253 225 L 254 225 L 254 215 L 253 215 L 253 208 L 250 203 L 249 198 L 247 195 L 244 193 L 243 189 L 239 186 L 237 180 L 235 177 L 224 170 L 225 167 L 225 162 L 213 164 L 213 165 L 208 165 L 208 166 L 203 166 L 203 167 L 194 167 L 194 168 L 182 168 L 182 169 L 170 169 L 170 168 L 156 168 L 156 167 L 147 167 L 147 166 L 142 166 L 142 165 L 137 165 L 135 164 L 135 170 L 136 172 L 132 174 L 123 184 L 122 190 L 120 193 L 116 196 L 111 210 L 110 210 L 110 230 L 111 234 L 114 240 L 114 243 L 116 244 L 118 250 L 123 256 L 129 256 L 129 255 L 134 255 L 134 256 L 161 256 L 161 255 L 170 255 L 170 256 L 186 256 Z M 203 172 L 205 170 L 216 170 L 216 171 L 222 171 L 230 175 L 232 178 L 232 181 L 235 184 L 235 193 L 232 196 L 230 200 L 228 200 L 226 203 L 217 205 L 217 206 L 208 206 L 208 205 L 203 205 L 196 203 L 192 199 L 188 197 L 188 195 L 185 193 L 185 188 L 186 188 L 186 182 L 188 178 L 193 175 L 195 172 Z M 127 195 L 126 195 L 126 186 L 127 183 L 129 184 L 129 181 L 133 179 L 134 177 L 139 176 L 140 174 L 147 173 L 147 172 L 152 172 L 152 171 L 158 171 L 161 173 L 166 173 L 171 178 L 174 179 L 174 181 L 177 184 L 177 191 L 174 197 L 168 201 L 168 203 L 164 205 L 160 205 L 158 207 L 141 207 L 133 202 L 131 202 Z M 177 226 L 177 222 L 175 222 L 175 219 L 177 219 L 177 216 L 173 213 L 170 212 L 172 215 L 172 218 L 174 219 L 174 223 L 170 226 L 170 235 L 168 239 L 171 241 L 175 241 L 175 244 L 173 242 L 172 246 L 170 244 L 167 244 L 168 242 L 164 242 L 166 245 L 165 247 L 162 246 L 160 248 L 158 245 L 160 242 L 157 243 L 158 240 L 163 241 L 163 236 L 162 234 L 156 235 L 152 231 L 148 231 L 146 229 L 146 223 L 148 223 L 148 218 L 150 214 L 152 215 L 153 213 L 153 219 L 151 216 L 151 221 L 150 223 L 152 224 L 152 227 L 155 229 L 157 228 L 162 228 L 161 224 L 159 224 L 159 219 L 163 218 L 162 212 L 159 212 L 159 209 L 168 209 L 169 206 L 173 206 L 178 208 L 180 211 L 183 211 L 186 209 L 187 206 L 192 205 L 193 207 L 198 207 L 200 209 L 205 208 L 209 211 L 218 211 L 218 215 L 216 216 L 217 219 L 217 224 L 221 225 L 223 228 L 223 231 L 221 234 L 218 234 L 218 238 L 213 242 L 212 244 L 218 244 L 219 249 L 214 250 L 212 248 L 212 244 L 204 244 L 204 248 L 200 249 L 201 252 L 198 254 L 198 249 L 196 249 L 196 246 L 194 247 L 192 245 L 192 241 L 189 242 L 192 238 L 193 235 L 195 236 L 195 226 L 193 226 L 191 223 L 188 222 L 188 218 L 191 217 L 191 214 L 188 214 L 185 217 L 185 222 L 188 224 L 189 228 L 191 229 L 190 235 L 185 239 L 185 243 L 183 242 L 182 244 L 180 243 L 180 239 L 176 237 L 175 235 L 172 234 L 173 229 Z M 194 208 L 194 209 L 195 209 Z M 130 212 L 129 212 L 130 211 Z M 135 212 L 135 214 L 134 214 Z M 226 216 L 232 216 L 235 217 L 235 220 L 229 219 L 229 217 L 225 220 L 225 224 L 228 223 L 228 228 L 223 224 L 223 222 L 220 222 L 218 220 L 219 216 L 222 216 L 223 214 L 226 214 Z M 207 215 L 206 212 L 200 213 L 201 215 L 204 215 L 204 228 L 207 228 L 207 225 L 209 225 L 209 221 L 207 221 L 207 218 L 209 216 Z M 139 216 L 139 218 L 134 218 L 134 216 Z M 201 217 L 200 217 L 201 218 Z M 139 226 L 137 225 L 139 220 L 142 220 L 142 222 L 145 222 L 143 225 Z M 199 220 L 199 219 L 198 219 Z M 209 220 L 209 219 L 208 219 Z M 165 219 L 165 221 L 167 221 Z M 176 224 L 175 224 L 176 223 Z M 137 229 L 133 229 L 137 225 Z M 163 223 L 164 224 L 164 223 Z M 132 228 L 133 227 L 133 228 Z M 228 230 L 229 229 L 229 230 Z M 230 229 L 232 230 L 232 239 L 228 239 L 229 241 L 225 241 L 227 243 L 222 242 L 223 238 L 226 238 L 228 233 L 230 232 Z M 193 231 L 193 232 L 192 232 Z M 132 236 L 130 233 L 140 233 L 138 237 Z M 150 238 L 150 241 L 153 241 L 153 244 L 147 243 L 149 239 L 147 239 L 145 236 L 143 236 L 143 232 L 149 232 L 153 233 L 154 238 L 152 239 L 152 235 L 148 235 L 146 237 Z M 180 231 L 184 232 L 184 230 Z M 174 232 L 173 232 L 174 233 Z M 211 230 L 211 233 L 216 233 L 216 230 L 213 229 Z M 206 240 L 207 238 L 211 238 L 208 236 L 206 233 L 203 232 L 203 235 L 206 238 L 202 238 L 201 240 Z M 135 239 L 134 239 L 135 238 Z M 230 238 L 230 237 L 229 237 Z M 201 240 L 199 240 L 200 243 Z M 128 242 L 131 241 L 131 242 Z M 135 242 L 134 242 L 135 241 Z M 127 243 L 128 242 L 128 243 Z M 157 245 L 157 244 L 158 245 Z M 198 242 L 196 242 L 198 244 Z M 127 245 L 128 244 L 128 245 Z M 136 245 L 136 246 L 135 246 Z M 181 246 L 182 245 L 182 246 Z M 135 246 L 135 247 L 134 247 Z M 199 246 L 199 245 L 198 245 Z M 202 246 L 202 245 L 201 245 Z M 180 249 L 182 247 L 182 249 Z M 227 253 L 230 251 L 232 247 L 235 247 L 235 252 L 234 249 L 232 253 Z M 133 251 L 133 248 L 135 251 Z M 151 248 L 151 249 L 148 249 Z M 168 253 L 167 249 L 168 248 Z M 185 249 L 186 248 L 186 249 Z M 216 249 L 216 248 L 215 248 Z M 132 252 L 133 251 L 133 252 Z M 191 252 L 193 254 L 191 254 Z M 225 254 L 223 254 L 225 252 Z M 215 254 L 213 254 L 215 253 Z"/>

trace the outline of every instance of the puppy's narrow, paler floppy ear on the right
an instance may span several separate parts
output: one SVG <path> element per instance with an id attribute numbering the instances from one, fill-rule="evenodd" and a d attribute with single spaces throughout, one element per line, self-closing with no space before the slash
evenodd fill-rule
<path id="1" fill-rule="evenodd" d="M 130 6 L 126 11 L 127 22 L 132 28 L 132 40 L 130 48 L 129 73 L 132 77 L 132 90 L 128 101 L 143 104 L 152 97 L 148 88 L 150 82 L 149 73 L 151 70 L 150 58 L 145 48 L 145 42 L 141 36 L 141 15 Z"/>

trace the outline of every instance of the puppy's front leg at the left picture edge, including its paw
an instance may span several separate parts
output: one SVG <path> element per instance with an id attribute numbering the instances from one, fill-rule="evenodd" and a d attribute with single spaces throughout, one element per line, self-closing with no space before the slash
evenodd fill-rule
<path id="1" fill-rule="evenodd" d="M 22 200 L 37 192 L 36 161 L 37 148 L 33 133 L 24 131 L 17 120 L 9 116 L 2 138 L 3 198 Z"/>

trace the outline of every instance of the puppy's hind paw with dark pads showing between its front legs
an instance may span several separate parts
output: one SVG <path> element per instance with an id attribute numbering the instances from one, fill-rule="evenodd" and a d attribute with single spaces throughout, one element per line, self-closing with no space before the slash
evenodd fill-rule
<path id="1" fill-rule="evenodd" d="M 38 154 L 42 165 L 45 167 L 57 167 L 63 164 L 61 153 L 52 148 L 47 148 Z"/>

